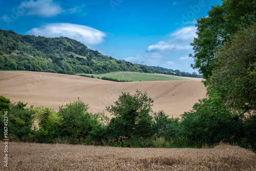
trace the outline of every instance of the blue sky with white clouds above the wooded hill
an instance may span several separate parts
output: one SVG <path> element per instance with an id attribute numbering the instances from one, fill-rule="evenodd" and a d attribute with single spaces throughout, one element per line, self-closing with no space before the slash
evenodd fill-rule
<path id="1" fill-rule="evenodd" d="M 117 59 L 197 72 L 195 23 L 221 0 L 0 1 L 0 29 L 67 36 Z"/>

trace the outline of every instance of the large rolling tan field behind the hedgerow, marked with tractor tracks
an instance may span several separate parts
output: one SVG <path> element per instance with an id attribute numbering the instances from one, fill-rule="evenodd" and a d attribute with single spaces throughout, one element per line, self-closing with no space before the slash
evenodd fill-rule
<path id="1" fill-rule="evenodd" d="M 154 99 L 154 112 L 163 110 L 179 117 L 192 109 L 198 99 L 206 97 L 200 80 L 113 82 L 95 78 L 29 71 L 0 71 L 0 95 L 11 102 L 23 101 L 58 111 L 62 104 L 79 97 L 93 113 L 103 112 L 122 92 L 147 92 Z M 110 116 L 109 113 L 104 113 Z"/>

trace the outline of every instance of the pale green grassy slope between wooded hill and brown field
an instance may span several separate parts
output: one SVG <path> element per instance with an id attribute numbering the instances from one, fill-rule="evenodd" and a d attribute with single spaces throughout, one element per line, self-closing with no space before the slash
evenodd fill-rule
<path id="1" fill-rule="evenodd" d="M 83 74 L 77 74 L 83 75 Z M 99 77 L 111 77 L 118 80 L 132 80 L 132 81 L 168 81 L 168 80 L 188 80 L 184 78 L 177 78 L 167 75 L 158 75 L 158 74 L 148 74 L 148 73 L 138 73 L 138 72 L 111 72 L 107 74 L 86 74 L 93 75 L 95 78 Z"/>

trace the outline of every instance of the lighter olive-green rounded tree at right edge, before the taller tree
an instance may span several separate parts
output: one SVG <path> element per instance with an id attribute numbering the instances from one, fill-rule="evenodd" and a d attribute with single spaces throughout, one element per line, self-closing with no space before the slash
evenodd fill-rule
<path id="1" fill-rule="evenodd" d="M 216 94 L 240 114 L 256 112 L 256 24 L 242 29 L 217 51 L 216 68 L 207 80 Z"/>

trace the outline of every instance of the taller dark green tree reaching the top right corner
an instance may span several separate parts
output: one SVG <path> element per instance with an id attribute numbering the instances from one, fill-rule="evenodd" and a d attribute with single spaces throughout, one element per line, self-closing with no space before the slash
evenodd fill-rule
<path id="1" fill-rule="evenodd" d="M 205 79 L 208 79 L 216 66 L 216 50 L 229 40 L 239 28 L 256 22 L 255 0 L 222 0 L 222 5 L 213 6 L 207 17 L 197 20 L 197 35 L 193 46 L 195 64 Z"/>

